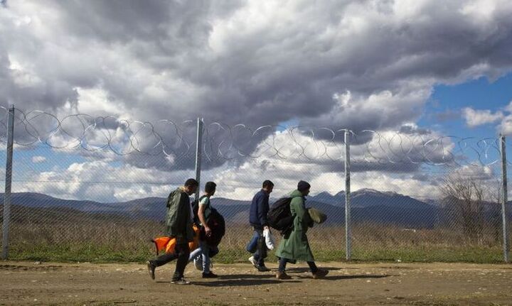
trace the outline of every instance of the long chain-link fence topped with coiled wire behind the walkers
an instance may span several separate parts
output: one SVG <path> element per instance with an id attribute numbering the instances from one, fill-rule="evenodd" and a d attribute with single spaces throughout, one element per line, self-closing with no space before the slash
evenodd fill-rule
<path id="1" fill-rule="evenodd" d="M 8 122 L 9 111 L 3 109 L 3 165 Z M 200 131 L 196 150 L 196 120 L 141 122 L 16 109 L 9 258 L 154 256 L 149 239 L 163 234 L 166 196 L 196 177 L 199 154 L 201 186 L 217 183 L 212 204 L 227 222 L 217 261 L 250 256 L 245 251 L 252 236 L 250 201 L 267 179 L 275 184 L 271 201 L 294 190 L 299 180 L 311 183 L 306 206 L 328 215 L 308 232 L 317 260 L 350 255 L 353 260 L 503 261 L 501 138 L 443 136 L 414 126 L 348 131 L 347 160 L 345 129 L 205 120 Z M 506 162 L 509 173 L 510 165 Z M 0 171 L 3 190 L 6 172 Z M 505 219 L 511 220 L 510 204 Z M 3 217 L 2 225 L 4 232 Z M 510 226 L 507 231 L 511 236 Z"/>

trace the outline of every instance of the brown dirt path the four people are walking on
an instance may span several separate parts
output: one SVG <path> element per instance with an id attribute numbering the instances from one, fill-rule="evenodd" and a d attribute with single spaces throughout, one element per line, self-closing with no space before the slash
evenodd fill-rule
<path id="1" fill-rule="evenodd" d="M 193 285 L 170 283 L 174 264 L 151 280 L 141 264 L 0 261 L 0 305 L 512 305 L 512 266 L 464 263 L 321 263 L 330 273 L 311 279 L 289 265 L 292 280 L 249 264 L 215 265 Z"/>

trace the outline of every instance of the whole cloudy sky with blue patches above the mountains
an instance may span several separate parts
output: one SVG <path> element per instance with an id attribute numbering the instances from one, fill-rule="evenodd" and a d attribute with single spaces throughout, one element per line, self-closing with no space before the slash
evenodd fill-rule
<path id="1" fill-rule="evenodd" d="M 456 158 L 497 177 L 511 13 L 504 0 L 3 0 L 14 191 L 165 196 L 195 174 L 198 117 L 219 196 L 251 197 L 264 177 L 282 193 L 298 180 L 343 190 L 345 129 L 353 190 L 435 197 Z"/>

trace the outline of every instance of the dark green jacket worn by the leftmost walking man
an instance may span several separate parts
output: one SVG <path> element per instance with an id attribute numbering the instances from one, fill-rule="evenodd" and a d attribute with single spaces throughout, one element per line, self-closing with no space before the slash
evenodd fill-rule
<path id="1" fill-rule="evenodd" d="M 167 235 L 176 237 L 176 243 L 193 241 L 190 198 L 178 188 L 167 197 Z"/>

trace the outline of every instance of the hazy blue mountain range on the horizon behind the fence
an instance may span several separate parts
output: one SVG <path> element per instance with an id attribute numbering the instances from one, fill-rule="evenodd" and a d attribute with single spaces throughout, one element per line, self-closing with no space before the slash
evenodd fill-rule
<path id="1" fill-rule="evenodd" d="M 274 200 L 276 199 L 271 199 L 270 202 Z M 0 203 L 4 202 L 4 194 L 0 194 L 0 201 Z M 353 224 L 376 222 L 411 228 L 430 228 L 453 217 L 453 212 L 451 214 L 449 212 L 450 209 L 438 203 L 437 200 L 424 202 L 395 192 L 361 189 L 351 193 L 351 219 Z M 101 203 L 88 200 L 63 200 L 38 193 L 22 192 L 12 195 L 12 204 L 24 208 L 37 208 L 38 212 L 41 212 L 41 209 L 50 209 L 53 214 L 60 209 L 65 214 L 75 211 L 87 212 L 95 216 L 105 214 L 117 215 L 122 219 L 160 221 L 164 219 L 166 198 L 145 197 L 128 202 Z M 247 224 L 249 200 L 213 197 L 212 205 L 223 214 L 227 222 Z M 344 224 L 345 222 L 345 192 L 343 191 L 336 195 L 321 192 L 307 197 L 306 207 L 316 207 L 326 213 L 328 216 L 326 224 Z"/>

